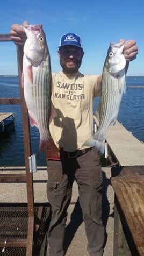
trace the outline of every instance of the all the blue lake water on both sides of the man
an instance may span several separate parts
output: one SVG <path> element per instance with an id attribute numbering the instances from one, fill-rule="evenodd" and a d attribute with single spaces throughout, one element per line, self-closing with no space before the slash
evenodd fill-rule
<path id="1" fill-rule="evenodd" d="M 135 88 L 131 88 L 135 86 Z M 140 141 L 144 141 L 144 76 L 126 77 L 126 94 L 123 95 L 118 121 Z M 0 97 L 19 97 L 18 77 L 0 76 Z M 98 98 L 93 102 L 96 110 Z M 0 166 L 24 166 L 23 128 L 20 105 L 1 105 L 0 112 L 14 112 L 15 130 L 0 137 Z M 32 153 L 37 155 L 37 165 L 45 166 L 45 153 L 39 153 L 39 131 L 30 128 Z"/>

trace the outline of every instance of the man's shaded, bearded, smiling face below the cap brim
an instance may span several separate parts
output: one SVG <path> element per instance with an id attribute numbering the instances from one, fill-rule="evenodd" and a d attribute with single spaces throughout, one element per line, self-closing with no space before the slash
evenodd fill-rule
<path id="1" fill-rule="evenodd" d="M 60 65 L 64 72 L 73 74 L 78 71 L 81 66 L 84 52 L 76 46 L 63 46 L 58 51 L 60 57 Z"/>

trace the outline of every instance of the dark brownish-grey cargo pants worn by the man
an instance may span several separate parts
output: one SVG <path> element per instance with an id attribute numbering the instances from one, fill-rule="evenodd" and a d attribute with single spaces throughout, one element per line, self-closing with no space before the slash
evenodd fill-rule
<path id="1" fill-rule="evenodd" d="M 85 232 L 90 256 L 102 256 L 104 226 L 102 223 L 102 169 L 97 150 L 80 157 L 61 161 L 47 160 L 47 197 L 52 206 L 52 219 L 48 232 L 51 256 L 63 255 L 67 208 L 71 201 L 74 180 L 78 184 Z"/>

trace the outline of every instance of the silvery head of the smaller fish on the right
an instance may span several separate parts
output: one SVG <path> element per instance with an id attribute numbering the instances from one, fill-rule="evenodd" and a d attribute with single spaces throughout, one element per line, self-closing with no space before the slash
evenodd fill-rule
<path id="1" fill-rule="evenodd" d="M 125 42 L 118 44 L 110 43 L 105 60 L 105 67 L 110 74 L 117 76 L 126 66 L 126 60 L 123 54 Z"/>

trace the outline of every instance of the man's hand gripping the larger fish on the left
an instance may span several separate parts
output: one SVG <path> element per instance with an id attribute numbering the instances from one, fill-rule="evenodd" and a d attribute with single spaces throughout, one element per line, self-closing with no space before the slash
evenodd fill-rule
<path id="1" fill-rule="evenodd" d="M 16 45 L 24 46 L 27 37 L 23 27 L 26 25 L 28 25 L 27 21 L 23 22 L 22 25 L 13 24 L 11 26 L 10 37 Z"/>

